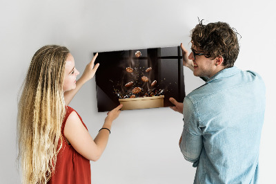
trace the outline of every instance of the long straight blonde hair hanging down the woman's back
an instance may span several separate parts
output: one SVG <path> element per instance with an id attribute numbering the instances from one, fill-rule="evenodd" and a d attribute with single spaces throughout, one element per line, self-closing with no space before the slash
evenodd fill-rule
<path id="1" fill-rule="evenodd" d="M 55 171 L 66 113 L 62 86 L 68 53 L 66 47 L 50 45 L 32 57 L 17 115 L 23 183 L 47 183 Z"/>

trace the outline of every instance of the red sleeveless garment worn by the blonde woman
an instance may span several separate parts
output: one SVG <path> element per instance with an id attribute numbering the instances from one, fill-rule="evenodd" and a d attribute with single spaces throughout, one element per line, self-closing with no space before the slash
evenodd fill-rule
<path id="1" fill-rule="evenodd" d="M 72 145 L 68 145 L 64 136 L 66 120 L 72 111 L 75 110 L 66 107 L 66 116 L 61 125 L 62 147 L 59 154 L 57 154 L 55 172 L 52 173 L 52 177 L 48 181 L 49 184 L 91 183 L 90 160 L 81 156 Z M 78 113 L 77 115 L 79 116 Z M 83 123 L 81 116 L 79 116 L 79 119 Z M 86 127 L 84 123 L 83 126 Z"/>

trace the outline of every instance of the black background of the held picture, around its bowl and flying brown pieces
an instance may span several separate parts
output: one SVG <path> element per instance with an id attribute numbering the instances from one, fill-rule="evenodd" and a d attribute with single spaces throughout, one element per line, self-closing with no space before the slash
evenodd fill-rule
<path id="1" fill-rule="evenodd" d="M 135 57 L 137 50 L 141 52 L 140 57 Z M 136 86 L 143 91 L 153 89 L 150 84 L 154 80 L 157 80 L 155 89 L 164 89 L 164 107 L 173 106 L 168 100 L 170 97 L 183 102 L 186 93 L 181 54 L 179 46 L 99 53 L 95 61 L 100 64 L 95 75 L 98 111 L 110 111 L 119 105 L 116 91 L 127 93 Z M 127 67 L 134 72 L 126 72 Z M 149 67 L 152 71 L 146 73 Z M 149 79 L 146 83 L 141 81 L 144 75 Z M 131 81 L 133 86 L 126 88 L 124 85 Z"/>

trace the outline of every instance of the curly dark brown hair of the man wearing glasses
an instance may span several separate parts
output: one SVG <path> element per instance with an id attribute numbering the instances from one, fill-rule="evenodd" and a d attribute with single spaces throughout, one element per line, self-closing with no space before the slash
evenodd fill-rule
<path id="1" fill-rule="evenodd" d="M 207 25 L 199 24 L 191 30 L 191 42 L 197 47 L 197 50 L 205 53 L 205 57 L 223 57 L 222 63 L 225 68 L 234 66 L 239 55 L 239 42 L 237 39 L 237 31 L 231 28 L 225 22 L 215 22 Z"/>

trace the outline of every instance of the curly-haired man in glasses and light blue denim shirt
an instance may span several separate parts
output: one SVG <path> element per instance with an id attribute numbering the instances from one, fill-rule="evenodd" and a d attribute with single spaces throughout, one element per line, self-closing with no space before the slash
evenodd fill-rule
<path id="1" fill-rule="evenodd" d="M 206 83 L 183 104 L 170 102 L 184 114 L 179 147 L 197 167 L 194 183 L 257 183 L 264 82 L 257 73 L 234 66 L 239 43 L 228 24 L 201 21 L 191 38 L 190 55 L 181 44 L 183 64 Z"/>

